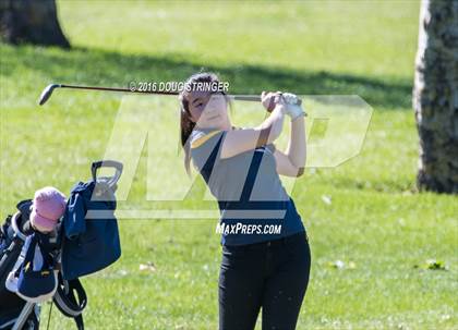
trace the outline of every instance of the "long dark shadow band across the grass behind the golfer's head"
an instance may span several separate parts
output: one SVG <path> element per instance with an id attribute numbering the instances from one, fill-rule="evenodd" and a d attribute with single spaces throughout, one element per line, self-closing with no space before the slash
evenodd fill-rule
<path id="1" fill-rule="evenodd" d="M 190 61 L 184 54 L 167 57 L 123 54 L 74 48 L 3 47 L 2 74 L 25 66 L 49 77 L 43 82 L 128 87 L 129 82 L 183 81 L 204 69 L 230 83 L 232 94 L 289 90 L 302 95 L 359 95 L 373 107 L 411 108 L 412 83 L 406 80 L 373 78 L 332 72 L 293 71 L 278 66 L 218 66 Z M 39 82 L 34 83 L 39 84 Z"/>

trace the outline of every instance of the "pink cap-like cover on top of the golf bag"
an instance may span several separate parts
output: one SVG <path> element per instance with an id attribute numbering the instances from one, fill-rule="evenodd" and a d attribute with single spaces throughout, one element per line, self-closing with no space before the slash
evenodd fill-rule
<path id="1" fill-rule="evenodd" d="M 65 196 L 57 188 L 47 186 L 35 192 L 32 206 L 32 225 L 40 232 L 51 232 L 65 210 Z"/>

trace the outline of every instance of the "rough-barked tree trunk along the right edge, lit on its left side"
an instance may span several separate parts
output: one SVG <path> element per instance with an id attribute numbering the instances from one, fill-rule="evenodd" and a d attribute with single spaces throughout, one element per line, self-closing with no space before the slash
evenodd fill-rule
<path id="1" fill-rule="evenodd" d="M 413 108 L 420 191 L 458 192 L 458 1 L 423 0 Z"/>

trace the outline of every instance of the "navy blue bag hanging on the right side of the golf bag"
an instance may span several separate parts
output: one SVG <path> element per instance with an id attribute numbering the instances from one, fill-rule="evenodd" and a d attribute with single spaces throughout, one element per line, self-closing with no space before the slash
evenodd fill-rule
<path id="1" fill-rule="evenodd" d="M 71 192 L 62 230 L 64 280 L 94 273 L 121 256 L 114 192 L 107 186 L 104 196 L 96 196 L 100 185 L 103 180 L 80 182 Z"/>

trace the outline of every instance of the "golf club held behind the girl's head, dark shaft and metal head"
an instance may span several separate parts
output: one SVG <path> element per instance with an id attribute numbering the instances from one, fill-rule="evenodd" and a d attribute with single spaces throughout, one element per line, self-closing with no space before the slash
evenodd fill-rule
<path id="1" fill-rule="evenodd" d="M 88 89 L 88 90 L 108 90 L 108 91 L 121 91 L 121 93 L 140 93 L 140 94 L 156 94 L 156 95 L 178 95 L 178 91 L 153 91 L 153 90 L 131 90 L 129 88 L 118 87 L 99 87 L 99 86 L 76 86 L 76 85 L 63 85 L 63 84 L 50 84 L 41 93 L 38 103 L 45 105 L 46 101 L 51 97 L 52 91 L 56 88 L 72 88 L 72 89 Z M 246 95 L 229 95 L 233 100 L 240 101 L 255 101 L 261 102 L 260 96 L 246 96 Z M 298 105 L 301 105 L 302 100 L 298 99 Z"/>

